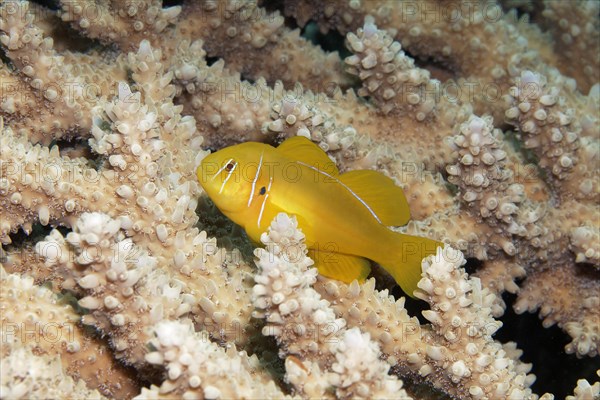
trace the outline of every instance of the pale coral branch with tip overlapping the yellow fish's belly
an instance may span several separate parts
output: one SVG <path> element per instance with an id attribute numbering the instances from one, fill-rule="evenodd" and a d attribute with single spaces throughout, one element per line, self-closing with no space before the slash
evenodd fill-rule
<path id="1" fill-rule="evenodd" d="M 296 219 L 278 214 L 261 241 L 266 248 L 255 252 L 255 316 L 266 319 L 263 334 L 275 336 L 280 344 L 280 356 L 287 357 L 287 379 L 296 390 L 323 397 L 331 385 L 337 398 L 409 399 L 402 381 L 388 375 L 390 366 L 380 360 L 379 346 L 370 335 L 357 327 L 346 329 L 346 321 L 336 318 L 329 302 L 311 287 L 318 272 L 309 268 L 313 261 Z M 313 377 L 298 370 L 298 363 Z M 317 389 L 322 392 L 315 393 Z"/>

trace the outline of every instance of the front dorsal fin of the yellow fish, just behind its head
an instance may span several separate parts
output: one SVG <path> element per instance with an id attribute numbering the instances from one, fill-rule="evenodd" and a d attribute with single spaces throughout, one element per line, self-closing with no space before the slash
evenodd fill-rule
<path id="1" fill-rule="evenodd" d="M 286 139 L 277 147 L 276 151 L 331 176 L 337 176 L 340 173 L 335 162 L 327 156 L 327 153 L 304 136 L 294 136 Z"/>

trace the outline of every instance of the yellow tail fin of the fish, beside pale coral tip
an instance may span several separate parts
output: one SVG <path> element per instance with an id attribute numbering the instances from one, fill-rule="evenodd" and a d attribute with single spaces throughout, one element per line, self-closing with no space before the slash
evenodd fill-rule
<path id="1" fill-rule="evenodd" d="M 443 247 L 444 244 L 429 238 L 394 232 L 390 257 L 379 264 L 394 277 L 404 293 L 414 298 L 413 292 L 421 280 L 423 258 L 436 254 L 438 246 Z"/>

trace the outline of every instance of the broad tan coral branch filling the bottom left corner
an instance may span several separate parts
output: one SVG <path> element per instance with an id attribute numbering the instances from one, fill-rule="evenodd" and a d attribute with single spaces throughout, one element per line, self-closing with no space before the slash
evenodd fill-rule
<path id="1" fill-rule="evenodd" d="M 74 382 L 77 382 L 77 390 L 88 385 L 105 396 L 131 397 L 139 390 L 127 371 L 113 359 L 108 346 L 89 337 L 77 323 L 78 319 L 71 306 L 61 303 L 50 289 L 35 285 L 30 277 L 7 274 L 0 266 L 3 359 L 0 384 L 8 388 L 18 386 L 7 389 L 2 398 L 19 398 L 17 392 L 27 387 L 31 391 L 23 396 L 52 397 L 50 393 L 59 389 L 57 383 L 63 379 L 65 391 L 62 393 L 68 393 Z M 31 363 L 38 366 L 50 364 L 49 375 L 36 375 L 32 367 L 29 376 L 19 372 L 18 376 L 11 377 L 11 373 L 16 373 L 12 368 L 28 367 L 25 360 L 30 358 Z M 47 382 L 49 386 L 45 387 L 46 379 L 52 384 Z M 44 395 L 44 390 L 49 392 Z M 58 392 L 56 396 L 61 397 Z"/>

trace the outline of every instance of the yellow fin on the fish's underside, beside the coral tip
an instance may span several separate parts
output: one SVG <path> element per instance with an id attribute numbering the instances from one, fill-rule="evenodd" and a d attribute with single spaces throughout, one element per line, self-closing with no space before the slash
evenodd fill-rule
<path id="1" fill-rule="evenodd" d="M 363 257 L 316 250 L 309 250 L 308 255 L 321 275 L 338 281 L 363 282 L 371 272 L 371 263 Z"/>

